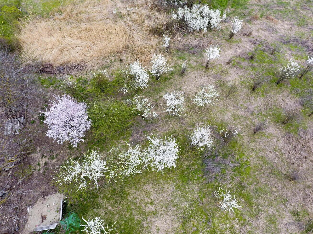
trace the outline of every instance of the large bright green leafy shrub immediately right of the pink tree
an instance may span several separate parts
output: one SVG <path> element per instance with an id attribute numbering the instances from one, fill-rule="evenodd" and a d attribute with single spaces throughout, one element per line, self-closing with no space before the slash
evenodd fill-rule
<path id="1" fill-rule="evenodd" d="M 136 116 L 133 108 L 117 100 L 95 101 L 90 105 L 89 117 L 96 137 L 118 139 L 125 135 Z"/>

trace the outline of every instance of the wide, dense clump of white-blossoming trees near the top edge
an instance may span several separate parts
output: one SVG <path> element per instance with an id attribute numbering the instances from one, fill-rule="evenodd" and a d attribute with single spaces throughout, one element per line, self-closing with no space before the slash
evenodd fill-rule
<path id="1" fill-rule="evenodd" d="M 220 29 L 220 23 L 223 20 L 220 10 L 210 9 L 207 4 L 194 4 L 191 9 L 187 8 L 187 6 L 178 8 L 176 13 L 172 13 L 172 18 L 174 20 L 182 20 L 187 24 L 190 32 L 207 32 L 208 28 Z"/>

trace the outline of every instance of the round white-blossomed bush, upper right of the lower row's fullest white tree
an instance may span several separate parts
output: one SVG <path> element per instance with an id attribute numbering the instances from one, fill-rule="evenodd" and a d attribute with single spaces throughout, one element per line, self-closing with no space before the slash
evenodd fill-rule
<path id="1" fill-rule="evenodd" d="M 210 126 L 204 125 L 203 127 L 196 127 L 190 136 L 191 145 L 196 146 L 198 149 L 203 150 L 205 147 L 210 148 L 213 144 L 212 131 Z"/>

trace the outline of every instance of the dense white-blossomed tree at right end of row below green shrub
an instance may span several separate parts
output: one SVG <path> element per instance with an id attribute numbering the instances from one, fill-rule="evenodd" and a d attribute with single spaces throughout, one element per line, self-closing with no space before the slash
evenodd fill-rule
<path id="1" fill-rule="evenodd" d="M 176 139 L 172 137 L 162 139 L 158 135 L 147 136 L 147 139 L 150 144 L 146 149 L 146 154 L 152 161 L 151 166 L 162 173 L 164 168 L 175 168 L 179 151 Z"/>

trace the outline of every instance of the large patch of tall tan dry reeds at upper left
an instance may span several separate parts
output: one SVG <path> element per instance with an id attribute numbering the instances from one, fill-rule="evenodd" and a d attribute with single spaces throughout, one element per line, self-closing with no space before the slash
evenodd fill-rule
<path id="1" fill-rule="evenodd" d="M 117 3 L 115 3 L 117 4 Z M 121 20 L 110 0 L 89 0 L 60 8 L 50 19 L 29 17 L 18 36 L 24 61 L 54 66 L 85 64 L 97 67 L 111 54 L 126 52 L 131 59 L 147 61 L 155 50 L 155 37 L 147 37 L 130 22 Z"/>

